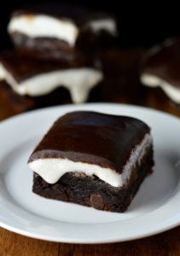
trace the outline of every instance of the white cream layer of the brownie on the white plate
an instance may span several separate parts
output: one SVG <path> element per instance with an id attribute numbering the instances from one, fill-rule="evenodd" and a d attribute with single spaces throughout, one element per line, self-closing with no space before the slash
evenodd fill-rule
<path id="1" fill-rule="evenodd" d="M 131 177 L 132 167 L 136 166 L 136 163 L 141 165 L 142 157 L 146 154 L 146 149 L 151 144 L 152 137 L 150 134 L 147 134 L 143 138 L 142 143 L 131 152 L 131 157 L 121 174 L 110 168 L 74 162 L 67 159 L 38 159 L 28 163 L 28 166 L 33 172 L 43 177 L 47 183 L 56 183 L 67 172 L 83 172 L 87 176 L 96 175 L 96 177 L 99 177 L 113 187 L 122 187 Z"/>

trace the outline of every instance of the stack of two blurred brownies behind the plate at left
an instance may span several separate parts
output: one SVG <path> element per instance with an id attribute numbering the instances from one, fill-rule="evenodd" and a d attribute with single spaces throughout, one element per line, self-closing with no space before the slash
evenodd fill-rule
<path id="1" fill-rule="evenodd" d="M 118 33 L 113 15 L 65 3 L 15 10 L 8 31 L 17 53 L 0 55 L 0 94 L 21 111 L 86 102 L 104 79 L 97 53 Z"/>

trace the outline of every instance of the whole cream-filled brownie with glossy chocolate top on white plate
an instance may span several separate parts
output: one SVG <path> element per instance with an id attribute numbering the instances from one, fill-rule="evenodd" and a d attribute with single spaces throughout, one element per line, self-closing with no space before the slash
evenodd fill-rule
<path id="1" fill-rule="evenodd" d="M 28 166 L 38 195 L 125 212 L 154 166 L 150 128 L 126 116 L 67 113 L 34 149 Z"/>

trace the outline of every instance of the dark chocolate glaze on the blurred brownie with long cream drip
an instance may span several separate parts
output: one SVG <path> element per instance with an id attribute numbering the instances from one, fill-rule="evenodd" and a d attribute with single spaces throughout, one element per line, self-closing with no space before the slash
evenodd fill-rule
<path id="1" fill-rule="evenodd" d="M 49 73 L 55 70 L 73 67 L 93 67 L 93 63 L 89 60 L 82 61 L 81 63 L 74 61 L 72 63 L 66 61 L 38 61 L 18 55 L 13 51 L 0 55 L 0 63 L 3 64 L 18 83 L 34 75 Z"/>

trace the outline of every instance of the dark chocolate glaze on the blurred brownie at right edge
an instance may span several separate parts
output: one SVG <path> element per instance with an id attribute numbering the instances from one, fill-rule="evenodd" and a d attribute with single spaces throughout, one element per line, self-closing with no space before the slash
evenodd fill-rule
<path id="1" fill-rule="evenodd" d="M 152 74 L 180 88 L 180 38 L 150 49 L 143 57 L 141 73 Z"/>

